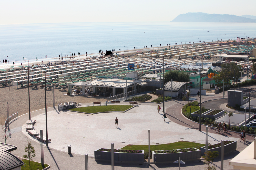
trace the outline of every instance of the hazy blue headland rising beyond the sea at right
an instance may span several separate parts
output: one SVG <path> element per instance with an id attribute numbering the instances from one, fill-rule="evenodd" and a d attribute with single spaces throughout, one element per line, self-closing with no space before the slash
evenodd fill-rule
<path id="1" fill-rule="evenodd" d="M 256 23 L 256 19 L 247 18 L 243 15 L 236 16 L 236 15 L 227 15 L 227 14 L 207 14 L 207 13 L 187 13 L 187 14 L 180 14 L 176 18 L 174 18 L 171 22 L 252 22 Z"/>

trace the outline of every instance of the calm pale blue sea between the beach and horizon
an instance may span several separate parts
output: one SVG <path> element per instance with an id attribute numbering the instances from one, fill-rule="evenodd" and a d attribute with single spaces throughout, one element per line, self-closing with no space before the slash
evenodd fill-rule
<path id="1" fill-rule="evenodd" d="M 0 62 L 255 37 L 256 23 L 91 22 L 0 25 Z M 209 32 L 208 32 L 209 31 Z M 124 47 L 126 46 L 126 47 Z M 127 48 L 129 47 L 129 48 Z M 69 51 L 71 53 L 69 53 Z M 8 57 L 7 57 L 8 56 Z"/>

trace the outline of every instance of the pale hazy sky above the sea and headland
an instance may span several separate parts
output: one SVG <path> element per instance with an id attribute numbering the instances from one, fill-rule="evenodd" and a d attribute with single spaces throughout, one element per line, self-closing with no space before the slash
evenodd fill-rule
<path id="1" fill-rule="evenodd" d="M 256 15 L 256 1 L 0 0 L 0 24 L 171 21 L 179 14 Z"/>

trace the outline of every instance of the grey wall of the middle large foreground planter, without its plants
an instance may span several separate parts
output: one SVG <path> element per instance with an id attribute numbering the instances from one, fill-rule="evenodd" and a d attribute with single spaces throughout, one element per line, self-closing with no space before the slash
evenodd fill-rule
<path id="1" fill-rule="evenodd" d="M 196 148 L 195 148 L 196 149 Z M 180 149 L 177 149 L 180 150 Z M 196 151 L 188 152 L 179 152 L 179 153 L 155 153 L 152 151 L 153 162 L 155 162 L 155 156 L 157 163 L 173 163 L 174 161 L 180 160 L 187 161 L 196 161 L 201 159 L 201 151 L 196 149 Z"/>

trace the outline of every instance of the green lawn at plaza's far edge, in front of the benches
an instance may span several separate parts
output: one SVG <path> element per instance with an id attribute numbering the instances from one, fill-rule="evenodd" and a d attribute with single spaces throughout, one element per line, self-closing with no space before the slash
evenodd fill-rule
<path id="1" fill-rule="evenodd" d="M 116 112 L 116 111 L 126 111 L 133 106 L 129 105 L 108 105 L 108 106 L 88 106 L 88 107 L 77 107 L 68 110 L 85 112 L 85 113 L 97 113 L 97 112 Z"/>

